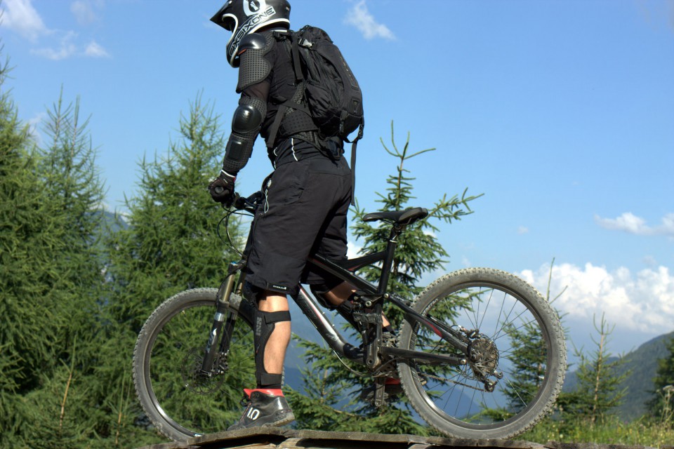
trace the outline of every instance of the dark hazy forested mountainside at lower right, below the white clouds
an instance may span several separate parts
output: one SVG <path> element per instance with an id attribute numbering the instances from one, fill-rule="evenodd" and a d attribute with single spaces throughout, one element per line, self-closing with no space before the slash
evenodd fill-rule
<path id="1" fill-rule="evenodd" d="M 646 413 L 646 403 L 653 396 L 653 379 L 658 368 L 658 360 L 668 356 L 666 344 L 674 338 L 674 332 L 655 337 L 624 356 L 619 374 L 629 373 L 623 381 L 627 394 L 617 408 L 623 420 L 635 420 Z M 616 357 L 610 360 L 617 360 Z M 578 383 L 576 372 L 569 373 L 564 382 L 564 391 L 573 391 Z"/>

